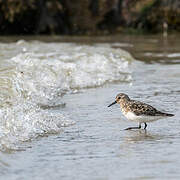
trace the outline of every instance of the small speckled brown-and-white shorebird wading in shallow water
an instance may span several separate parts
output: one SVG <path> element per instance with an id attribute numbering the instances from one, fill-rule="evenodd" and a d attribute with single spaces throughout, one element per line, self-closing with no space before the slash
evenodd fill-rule
<path id="1" fill-rule="evenodd" d="M 138 122 L 138 127 L 128 127 L 125 130 L 141 129 L 141 124 L 144 123 L 146 129 L 148 122 L 157 121 L 158 119 L 172 117 L 174 114 L 168 114 L 158 111 L 149 104 L 140 101 L 131 100 L 128 95 L 120 93 L 116 96 L 116 100 L 108 107 L 114 104 L 120 104 L 123 115 L 130 121 Z"/>

